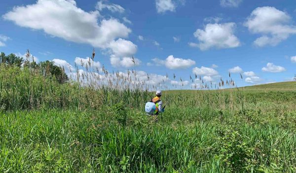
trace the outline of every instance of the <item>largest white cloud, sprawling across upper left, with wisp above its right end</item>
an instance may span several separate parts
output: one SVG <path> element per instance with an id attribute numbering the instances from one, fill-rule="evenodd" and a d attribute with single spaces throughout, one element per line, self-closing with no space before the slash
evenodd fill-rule
<path id="1" fill-rule="evenodd" d="M 111 55 L 135 54 L 137 46 L 123 39 L 131 29 L 115 18 L 105 19 L 100 14 L 104 8 L 111 12 L 124 12 L 124 9 L 108 1 L 99 1 L 96 8 L 96 11 L 86 12 L 77 7 L 74 0 L 37 0 L 35 4 L 14 7 L 3 18 L 68 41 L 110 49 Z"/>

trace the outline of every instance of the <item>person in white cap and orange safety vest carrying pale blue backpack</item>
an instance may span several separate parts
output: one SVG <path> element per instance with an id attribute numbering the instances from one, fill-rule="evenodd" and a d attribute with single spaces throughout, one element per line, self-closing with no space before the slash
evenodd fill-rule
<path id="1" fill-rule="evenodd" d="M 156 91 L 156 96 L 150 100 L 145 106 L 145 111 L 150 115 L 158 115 L 158 113 L 164 112 L 162 101 L 160 100 L 161 91 Z"/>

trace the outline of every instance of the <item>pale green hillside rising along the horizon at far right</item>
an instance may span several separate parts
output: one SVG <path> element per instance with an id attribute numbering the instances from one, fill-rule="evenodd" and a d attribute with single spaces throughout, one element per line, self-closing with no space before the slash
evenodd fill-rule
<path id="1" fill-rule="evenodd" d="M 276 82 L 244 87 L 248 90 L 296 90 L 296 82 Z"/>

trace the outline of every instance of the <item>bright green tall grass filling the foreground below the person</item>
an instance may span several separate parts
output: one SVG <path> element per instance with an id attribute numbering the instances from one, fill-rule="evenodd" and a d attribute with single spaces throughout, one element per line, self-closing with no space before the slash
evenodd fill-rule
<path id="1" fill-rule="evenodd" d="M 126 113 L 122 123 L 114 108 L 103 110 L 1 113 L 0 172 L 296 169 L 295 131 L 277 124 L 250 123 L 240 114 L 208 108 L 182 109 L 185 113 L 179 115 L 169 110 L 157 123 L 122 109 Z"/>

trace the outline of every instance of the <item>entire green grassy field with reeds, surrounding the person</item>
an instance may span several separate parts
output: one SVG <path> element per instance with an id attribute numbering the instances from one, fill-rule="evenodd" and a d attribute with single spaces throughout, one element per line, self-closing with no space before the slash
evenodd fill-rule
<path id="1" fill-rule="evenodd" d="M 294 173 L 294 87 L 168 91 L 156 118 L 148 91 L 2 67 L 0 172 Z"/>

